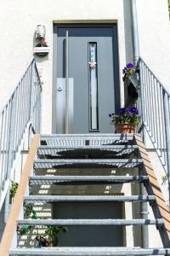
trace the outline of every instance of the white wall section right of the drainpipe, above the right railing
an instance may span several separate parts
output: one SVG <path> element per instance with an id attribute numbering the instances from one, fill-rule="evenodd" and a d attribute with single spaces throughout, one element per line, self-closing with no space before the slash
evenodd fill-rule
<path id="1" fill-rule="evenodd" d="M 167 0 L 136 0 L 140 55 L 170 93 L 170 21 Z"/>

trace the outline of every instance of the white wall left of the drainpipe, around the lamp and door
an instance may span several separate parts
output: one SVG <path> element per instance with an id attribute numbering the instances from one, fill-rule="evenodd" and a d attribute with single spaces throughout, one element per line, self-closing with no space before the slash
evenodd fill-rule
<path id="1" fill-rule="evenodd" d="M 37 59 L 44 67 L 42 94 L 42 132 L 51 132 L 53 21 L 104 22 L 118 20 L 120 67 L 125 63 L 124 21 L 122 0 L 3 0 L 1 2 L 0 52 L 1 103 L 5 101 L 15 81 L 31 60 L 34 32 L 38 24 L 46 26 L 46 40 L 51 48 L 48 58 Z M 67 21 L 68 22 L 68 21 Z M 121 71 L 120 71 L 121 76 Z"/>

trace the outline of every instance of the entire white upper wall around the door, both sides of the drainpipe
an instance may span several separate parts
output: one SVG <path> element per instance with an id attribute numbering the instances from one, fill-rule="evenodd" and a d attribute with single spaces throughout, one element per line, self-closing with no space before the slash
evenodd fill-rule
<path id="1" fill-rule="evenodd" d="M 170 22 L 167 0 L 136 0 L 139 17 L 140 55 L 162 84 L 170 84 Z M 118 22 L 120 80 L 122 67 L 132 61 L 129 0 L 2 0 L 0 9 L 0 107 L 32 58 L 37 24 L 46 26 L 50 46 L 47 58 L 37 58 L 44 67 L 42 132 L 51 132 L 53 77 L 53 22 Z M 124 29 L 125 28 L 125 29 Z M 122 84 L 121 84 L 122 88 Z M 123 99 L 123 90 L 122 90 Z"/>

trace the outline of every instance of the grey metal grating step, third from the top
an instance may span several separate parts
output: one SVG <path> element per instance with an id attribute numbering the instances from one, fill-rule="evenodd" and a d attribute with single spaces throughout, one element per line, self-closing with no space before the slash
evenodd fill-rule
<path id="1" fill-rule="evenodd" d="M 63 167 L 63 166 L 82 166 L 82 167 L 88 167 L 88 166 L 115 166 L 115 167 L 137 167 L 140 166 L 143 163 L 143 160 L 141 159 L 59 159 L 59 160 L 35 160 L 34 161 L 34 169 L 37 168 L 56 168 L 56 167 Z"/>

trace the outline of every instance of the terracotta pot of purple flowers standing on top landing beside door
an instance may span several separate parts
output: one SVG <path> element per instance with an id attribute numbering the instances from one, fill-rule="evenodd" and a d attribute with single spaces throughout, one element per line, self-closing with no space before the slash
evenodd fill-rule
<path id="1" fill-rule="evenodd" d="M 115 125 L 116 133 L 135 133 L 139 122 L 137 108 L 119 108 L 116 113 L 109 113 L 111 124 Z"/>

